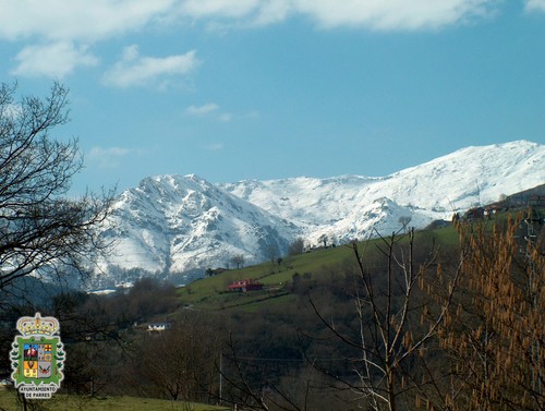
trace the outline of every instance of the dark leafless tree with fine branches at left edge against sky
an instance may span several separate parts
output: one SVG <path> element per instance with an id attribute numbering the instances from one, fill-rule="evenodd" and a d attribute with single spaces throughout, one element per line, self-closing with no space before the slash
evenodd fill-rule
<path id="1" fill-rule="evenodd" d="M 77 140 L 50 132 L 68 121 L 68 89 L 55 83 L 48 97 L 20 101 L 15 93 L 0 86 L 0 289 L 31 273 L 88 266 L 106 246 L 96 229 L 113 196 L 66 195 L 83 160 Z"/>

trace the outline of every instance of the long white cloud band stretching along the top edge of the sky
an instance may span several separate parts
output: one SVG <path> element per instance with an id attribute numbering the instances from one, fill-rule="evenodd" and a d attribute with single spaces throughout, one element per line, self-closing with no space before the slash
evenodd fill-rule
<path id="1" fill-rule="evenodd" d="M 293 15 L 326 27 L 383 29 L 438 27 L 481 15 L 497 0 L 2 0 L 0 38 L 93 44 L 166 21 L 237 21 L 272 24 Z M 543 0 L 526 0 L 543 8 Z"/>

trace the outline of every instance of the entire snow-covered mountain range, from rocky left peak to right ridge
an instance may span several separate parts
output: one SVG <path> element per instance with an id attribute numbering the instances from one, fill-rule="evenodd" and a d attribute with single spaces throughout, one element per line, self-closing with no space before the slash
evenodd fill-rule
<path id="1" fill-rule="evenodd" d="M 518 141 L 468 147 L 382 178 L 341 176 L 211 184 L 196 176 L 144 179 L 113 206 L 105 235 L 104 282 L 143 273 L 204 275 L 234 256 L 252 264 L 280 256 L 301 237 L 343 243 L 400 218 L 424 228 L 455 211 L 545 183 L 545 146 Z"/>

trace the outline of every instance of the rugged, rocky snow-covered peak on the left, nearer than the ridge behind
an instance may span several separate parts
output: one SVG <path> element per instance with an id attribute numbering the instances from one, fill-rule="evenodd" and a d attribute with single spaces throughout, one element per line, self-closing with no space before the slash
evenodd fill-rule
<path id="1" fill-rule="evenodd" d="M 104 235 L 114 242 L 98 282 L 128 280 L 128 270 L 198 276 L 235 255 L 256 263 L 284 253 L 296 228 L 196 176 L 144 179 L 113 205 Z M 95 281 L 95 286 L 96 286 Z"/>

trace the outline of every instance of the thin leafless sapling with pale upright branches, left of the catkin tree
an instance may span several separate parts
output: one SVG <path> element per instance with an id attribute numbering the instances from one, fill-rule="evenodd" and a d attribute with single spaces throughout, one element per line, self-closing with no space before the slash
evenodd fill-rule
<path id="1" fill-rule="evenodd" d="M 439 388 L 434 385 L 437 376 L 427 366 L 424 353 L 447 315 L 460 266 L 445 276 L 441 266 L 435 264 L 436 247 L 417 264 L 413 230 L 407 235 L 379 238 L 377 249 L 386 264 L 385 273 L 373 273 L 377 266 L 366 267 L 359 245 L 353 243 L 352 249 L 358 263 L 353 301 L 359 329 L 340 327 L 310 301 L 332 337 L 353 352 L 353 356 L 347 358 L 353 374 L 338 375 L 325 366 L 319 370 L 341 388 L 355 392 L 373 410 L 405 409 L 415 397 L 427 399 L 431 391 Z M 434 299 L 422 292 L 432 283 L 444 290 L 435 293 Z"/>

